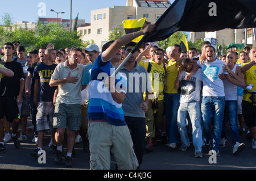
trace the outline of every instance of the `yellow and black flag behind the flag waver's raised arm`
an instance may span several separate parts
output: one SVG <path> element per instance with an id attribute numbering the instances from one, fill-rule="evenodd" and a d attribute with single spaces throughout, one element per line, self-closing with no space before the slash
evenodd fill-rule
<path id="1" fill-rule="evenodd" d="M 140 31 L 145 22 L 146 22 L 146 18 L 141 18 L 141 19 L 126 19 L 126 20 L 123 20 L 122 23 L 123 23 L 123 28 L 125 29 L 125 33 L 129 34 L 132 32 Z M 138 43 L 142 39 L 142 36 L 137 37 L 133 41 Z"/>

